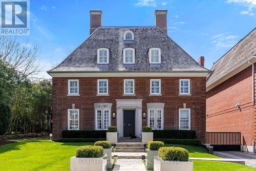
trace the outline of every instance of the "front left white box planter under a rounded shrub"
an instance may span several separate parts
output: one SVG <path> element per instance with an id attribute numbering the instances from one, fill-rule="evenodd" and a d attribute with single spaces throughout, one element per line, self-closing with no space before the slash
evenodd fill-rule
<path id="1" fill-rule="evenodd" d="M 106 154 L 99 158 L 70 158 L 70 171 L 105 171 Z"/>

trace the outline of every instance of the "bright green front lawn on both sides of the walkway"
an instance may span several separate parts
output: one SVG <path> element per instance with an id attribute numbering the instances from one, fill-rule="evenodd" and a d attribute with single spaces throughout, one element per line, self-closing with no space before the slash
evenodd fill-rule
<path id="1" fill-rule="evenodd" d="M 69 170 L 70 157 L 81 145 L 93 143 L 61 143 L 50 140 L 21 140 L 0 146 L 0 170 Z M 184 147 L 189 157 L 217 158 L 201 146 L 166 144 Z M 194 170 L 254 170 L 236 163 L 194 161 Z"/>

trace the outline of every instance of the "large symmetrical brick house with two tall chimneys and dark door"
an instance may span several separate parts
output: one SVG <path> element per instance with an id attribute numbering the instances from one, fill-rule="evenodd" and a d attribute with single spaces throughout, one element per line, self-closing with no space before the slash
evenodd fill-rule
<path id="1" fill-rule="evenodd" d="M 167 35 L 167 11 L 150 27 L 103 27 L 101 15 L 90 11 L 90 36 L 48 71 L 53 135 L 116 125 L 119 137 L 140 137 L 149 125 L 196 130 L 204 142 L 209 70 Z"/>

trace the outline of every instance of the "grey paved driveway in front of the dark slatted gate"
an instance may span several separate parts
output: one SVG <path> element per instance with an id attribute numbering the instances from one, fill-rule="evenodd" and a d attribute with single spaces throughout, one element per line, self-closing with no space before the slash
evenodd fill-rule
<path id="1" fill-rule="evenodd" d="M 245 161 L 245 165 L 256 167 L 256 155 L 247 152 L 214 152 L 214 155 L 230 158 L 230 159 L 240 159 Z"/>

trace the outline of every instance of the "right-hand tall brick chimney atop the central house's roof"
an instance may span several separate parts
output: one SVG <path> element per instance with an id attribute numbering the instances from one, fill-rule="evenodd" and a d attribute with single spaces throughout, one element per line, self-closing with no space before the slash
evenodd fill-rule
<path id="1" fill-rule="evenodd" d="M 155 11 L 156 26 L 167 34 L 167 10 Z"/>

